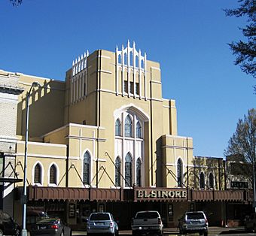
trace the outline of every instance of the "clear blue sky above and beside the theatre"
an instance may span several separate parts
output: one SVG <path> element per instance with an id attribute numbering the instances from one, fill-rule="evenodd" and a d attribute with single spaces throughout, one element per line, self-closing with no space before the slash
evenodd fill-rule
<path id="1" fill-rule="evenodd" d="M 160 62 L 163 98 L 176 100 L 178 135 L 195 156 L 223 156 L 236 123 L 255 107 L 255 80 L 233 65 L 227 43 L 245 19 L 237 0 L 0 0 L 0 69 L 64 80 L 72 60 L 136 42 Z"/>

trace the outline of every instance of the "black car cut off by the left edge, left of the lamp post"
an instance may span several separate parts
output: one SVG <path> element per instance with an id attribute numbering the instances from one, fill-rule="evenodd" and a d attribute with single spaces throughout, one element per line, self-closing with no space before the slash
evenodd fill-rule
<path id="1" fill-rule="evenodd" d="M 8 213 L 0 210 L 0 236 L 20 235 L 20 225 Z"/>

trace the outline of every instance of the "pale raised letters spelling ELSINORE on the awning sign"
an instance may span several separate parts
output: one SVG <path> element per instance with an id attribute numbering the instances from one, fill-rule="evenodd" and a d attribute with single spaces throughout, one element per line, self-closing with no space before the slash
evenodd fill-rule
<path id="1" fill-rule="evenodd" d="M 137 198 L 187 198 L 185 190 L 136 190 Z"/>

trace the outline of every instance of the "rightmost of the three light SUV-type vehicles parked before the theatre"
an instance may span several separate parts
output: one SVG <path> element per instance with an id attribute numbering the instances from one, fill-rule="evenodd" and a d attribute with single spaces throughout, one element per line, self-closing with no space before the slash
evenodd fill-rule
<path id="1" fill-rule="evenodd" d="M 208 235 L 208 220 L 203 211 L 186 212 L 179 219 L 178 228 L 180 234 L 199 233 L 200 235 Z"/>

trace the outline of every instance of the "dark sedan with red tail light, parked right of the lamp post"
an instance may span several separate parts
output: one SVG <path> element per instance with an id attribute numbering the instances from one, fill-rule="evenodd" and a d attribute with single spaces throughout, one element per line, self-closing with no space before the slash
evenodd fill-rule
<path id="1" fill-rule="evenodd" d="M 59 218 L 42 219 L 31 226 L 30 235 L 71 236 L 72 230 Z"/>

